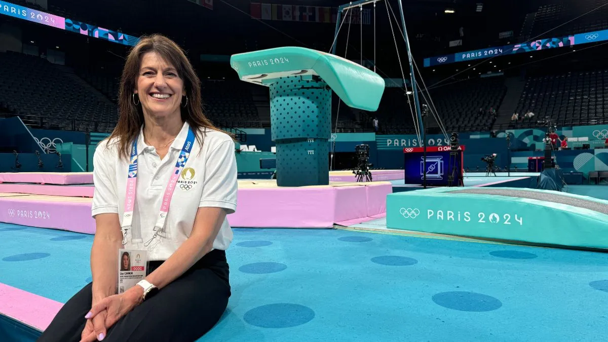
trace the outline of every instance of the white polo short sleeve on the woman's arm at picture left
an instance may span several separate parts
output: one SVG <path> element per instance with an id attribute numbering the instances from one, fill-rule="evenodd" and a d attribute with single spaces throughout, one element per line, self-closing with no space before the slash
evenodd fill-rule
<path id="1" fill-rule="evenodd" d="M 98 214 L 118 213 L 116 183 L 116 164 L 119 162 L 114 153 L 102 142 L 95 148 L 93 155 L 93 184 L 95 190 L 91 205 L 92 217 Z"/>

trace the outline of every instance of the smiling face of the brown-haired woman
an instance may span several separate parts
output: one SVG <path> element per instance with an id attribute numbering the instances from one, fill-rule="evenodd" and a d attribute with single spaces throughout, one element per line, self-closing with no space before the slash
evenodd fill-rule
<path id="1" fill-rule="evenodd" d="M 177 69 L 163 60 L 156 52 L 147 52 L 142 57 L 135 92 L 139 95 L 143 113 L 154 117 L 178 114 L 184 81 Z"/>

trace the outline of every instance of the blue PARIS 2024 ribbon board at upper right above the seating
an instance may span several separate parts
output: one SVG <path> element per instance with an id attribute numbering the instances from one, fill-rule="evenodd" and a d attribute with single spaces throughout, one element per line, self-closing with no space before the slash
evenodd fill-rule
<path id="1" fill-rule="evenodd" d="M 459 61 L 479 60 L 498 55 L 521 54 L 539 50 L 553 49 L 556 47 L 595 43 L 596 41 L 604 40 L 608 40 L 608 30 L 578 33 L 576 35 L 569 35 L 565 37 L 543 38 L 534 41 L 526 41 L 524 43 L 519 44 L 488 47 L 487 49 L 457 52 L 455 54 L 429 57 L 424 58 L 424 66 L 429 67 L 450 64 Z"/>

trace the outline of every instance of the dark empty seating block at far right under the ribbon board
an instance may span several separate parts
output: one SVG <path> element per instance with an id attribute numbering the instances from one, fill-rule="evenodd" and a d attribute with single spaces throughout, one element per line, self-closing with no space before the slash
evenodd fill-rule
<path id="1" fill-rule="evenodd" d="M 516 112 L 534 113 L 532 122 L 524 119 L 522 125 L 534 125 L 545 116 L 559 126 L 598 125 L 608 123 L 604 106 L 608 106 L 608 69 L 530 77 Z"/>

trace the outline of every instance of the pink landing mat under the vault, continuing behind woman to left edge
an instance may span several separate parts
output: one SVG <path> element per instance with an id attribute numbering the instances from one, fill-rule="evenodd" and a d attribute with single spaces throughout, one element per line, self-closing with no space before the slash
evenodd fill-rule
<path id="1" fill-rule="evenodd" d="M 362 223 L 386 212 L 388 182 L 282 188 L 268 182 L 241 184 L 233 227 L 333 228 L 334 223 Z M 340 184 L 340 183 L 334 183 Z M 5 195 L 5 196 L 2 196 Z M 0 222 L 95 233 L 91 198 L 0 193 Z"/>

